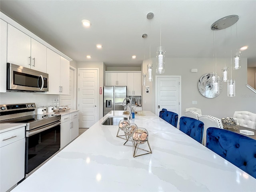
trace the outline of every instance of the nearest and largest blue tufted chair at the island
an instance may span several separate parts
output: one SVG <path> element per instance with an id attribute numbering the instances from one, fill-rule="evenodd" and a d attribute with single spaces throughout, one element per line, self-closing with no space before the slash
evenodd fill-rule
<path id="1" fill-rule="evenodd" d="M 216 127 L 206 134 L 207 148 L 256 178 L 256 140 Z"/>

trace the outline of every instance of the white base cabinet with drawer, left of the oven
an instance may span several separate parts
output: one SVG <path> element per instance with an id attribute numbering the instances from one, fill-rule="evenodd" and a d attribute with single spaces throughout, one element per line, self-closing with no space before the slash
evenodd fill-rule
<path id="1" fill-rule="evenodd" d="M 25 127 L 0 134 L 0 191 L 7 191 L 25 176 Z"/>

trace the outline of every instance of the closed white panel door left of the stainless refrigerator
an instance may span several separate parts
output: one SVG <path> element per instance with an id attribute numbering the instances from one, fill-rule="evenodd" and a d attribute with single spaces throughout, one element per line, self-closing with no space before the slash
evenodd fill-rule
<path id="1" fill-rule="evenodd" d="M 79 128 L 98 121 L 98 69 L 78 69 Z"/>

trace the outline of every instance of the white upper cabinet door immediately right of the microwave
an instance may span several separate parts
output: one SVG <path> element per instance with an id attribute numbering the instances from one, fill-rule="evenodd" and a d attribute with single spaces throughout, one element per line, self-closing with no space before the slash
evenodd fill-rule
<path id="1" fill-rule="evenodd" d="M 47 94 L 60 94 L 60 55 L 48 48 L 47 73 L 49 74 L 49 91 Z"/>

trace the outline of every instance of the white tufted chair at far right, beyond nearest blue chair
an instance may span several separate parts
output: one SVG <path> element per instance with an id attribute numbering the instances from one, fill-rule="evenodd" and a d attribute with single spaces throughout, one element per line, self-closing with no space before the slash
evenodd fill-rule
<path id="1" fill-rule="evenodd" d="M 249 111 L 235 111 L 234 116 L 240 126 L 256 129 L 256 114 Z"/>

